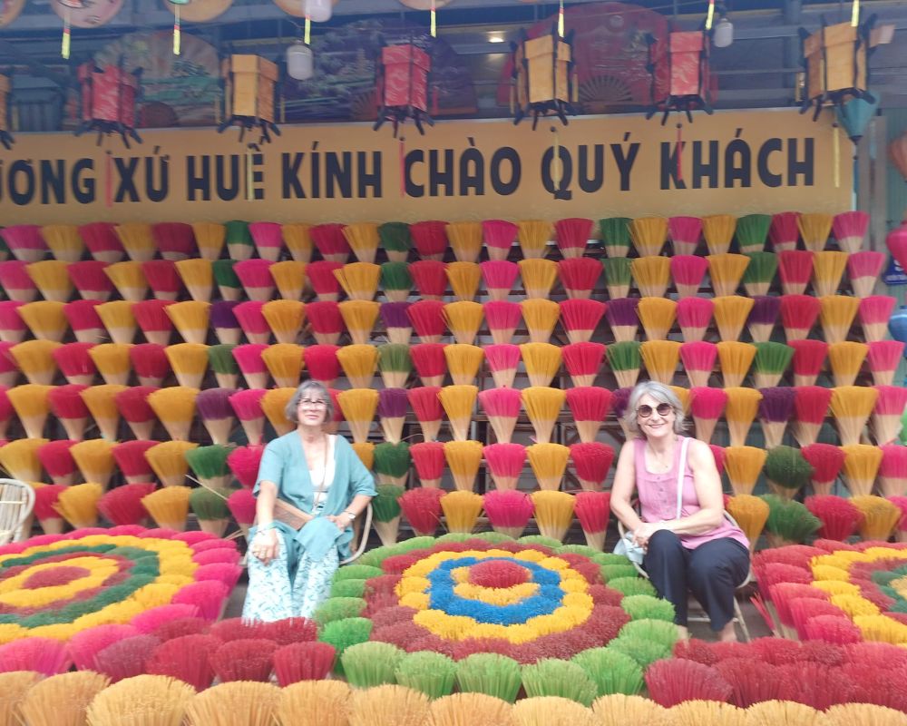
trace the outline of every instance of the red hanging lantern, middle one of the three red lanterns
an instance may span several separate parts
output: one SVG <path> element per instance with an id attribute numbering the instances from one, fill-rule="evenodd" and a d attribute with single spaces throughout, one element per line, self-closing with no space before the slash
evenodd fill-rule
<path id="1" fill-rule="evenodd" d="M 375 93 L 378 99 L 378 120 L 373 127 L 381 128 L 385 121 L 394 124 L 394 136 L 401 123 L 412 119 L 419 133 L 423 123 L 434 126 L 428 115 L 428 72 L 432 59 L 414 44 L 385 45 L 381 62 L 375 64 Z"/>

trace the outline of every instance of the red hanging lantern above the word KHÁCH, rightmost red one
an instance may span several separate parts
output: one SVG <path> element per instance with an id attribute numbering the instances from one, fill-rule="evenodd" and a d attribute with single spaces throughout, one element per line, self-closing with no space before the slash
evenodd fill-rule
<path id="1" fill-rule="evenodd" d="M 693 122 L 693 111 L 712 110 L 711 70 L 708 65 L 708 34 L 701 30 L 668 33 L 666 38 L 649 39 L 649 65 L 652 69 L 652 108 L 646 115 L 664 113 L 661 123 L 672 111 L 686 113 Z"/>

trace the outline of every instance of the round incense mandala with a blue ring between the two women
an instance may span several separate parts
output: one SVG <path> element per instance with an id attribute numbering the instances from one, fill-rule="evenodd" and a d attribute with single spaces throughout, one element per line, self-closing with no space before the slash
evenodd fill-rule
<path id="1" fill-rule="evenodd" d="M 454 658 L 496 652 L 520 662 L 569 659 L 618 635 L 630 620 L 620 607 L 625 594 L 654 594 L 631 567 L 621 579 L 632 593 L 605 585 L 609 567 L 628 574 L 618 555 L 496 536 L 418 537 L 360 562 L 360 574 L 382 574 L 356 589 L 341 569 L 332 594 L 361 597 L 329 599 L 316 618 L 326 624 L 358 615 L 372 622 L 369 640 Z"/>

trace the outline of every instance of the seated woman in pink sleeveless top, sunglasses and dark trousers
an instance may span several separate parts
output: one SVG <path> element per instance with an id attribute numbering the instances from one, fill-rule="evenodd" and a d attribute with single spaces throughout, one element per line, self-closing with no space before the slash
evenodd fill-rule
<path id="1" fill-rule="evenodd" d="M 682 436 L 683 407 L 655 381 L 633 389 L 624 423 L 637 438 L 620 450 L 611 510 L 645 549 L 643 567 L 658 595 L 674 605 L 681 633 L 686 637 L 692 592 L 720 639 L 736 640 L 734 591 L 749 572 L 749 543 L 725 516 L 711 449 Z M 639 514 L 631 505 L 634 490 Z"/>

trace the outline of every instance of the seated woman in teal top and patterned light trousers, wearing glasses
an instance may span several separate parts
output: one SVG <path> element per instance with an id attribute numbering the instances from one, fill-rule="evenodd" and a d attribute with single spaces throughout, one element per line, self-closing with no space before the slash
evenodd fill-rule
<path id="1" fill-rule="evenodd" d="M 375 481 L 344 437 L 328 435 L 330 393 L 307 381 L 287 409 L 296 430 L 265 447 L 253 490 L 249 590 L 243 617 L 311 617 L 349 555 L 351 525 L 375 495 Z"/>

